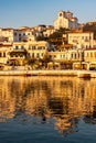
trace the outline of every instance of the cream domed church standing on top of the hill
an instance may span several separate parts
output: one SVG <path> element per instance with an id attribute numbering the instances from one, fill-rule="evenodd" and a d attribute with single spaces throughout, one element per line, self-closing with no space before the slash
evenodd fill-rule
<path id="1" fill-rule="evenodd" d="M 73 13 L 70 11 L 58 11 L 57 19 L 54 20 L 54 29 L 77 29 L 78 20 L 73 16 Z"/>

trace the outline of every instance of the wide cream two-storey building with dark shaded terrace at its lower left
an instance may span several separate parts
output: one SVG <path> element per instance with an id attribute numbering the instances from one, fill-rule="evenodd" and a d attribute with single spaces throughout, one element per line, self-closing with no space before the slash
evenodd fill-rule
<path id="1" fill-rule="evenodd" d="M 45 41 L 15 42 L 9 54 L 9 64 L 23 66 L 28 58 L 42 59 L 49 50 L 50 44 Z"/>

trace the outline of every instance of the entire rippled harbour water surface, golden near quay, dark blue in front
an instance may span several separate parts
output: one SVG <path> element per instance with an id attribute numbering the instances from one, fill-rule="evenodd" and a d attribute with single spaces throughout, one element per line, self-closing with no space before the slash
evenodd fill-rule
<path id="1" fill-rule="evenodd" d="M 0 143 L 96 143 L 96 79 L 0 77 Z"/>

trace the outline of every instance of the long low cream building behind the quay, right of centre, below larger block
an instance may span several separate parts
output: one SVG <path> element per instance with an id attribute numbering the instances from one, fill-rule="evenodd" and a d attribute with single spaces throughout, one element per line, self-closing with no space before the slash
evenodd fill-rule
<path id="1" fill-rule="evenodd" d="M 58 63 L 61 68 L 73 68 L 74 63 L 81 63 L 84 58 L 83 50 L 62 50 L 55 52 L 49 52 L 49 56 L 53 64 Z M 54 65 L 55 66 L 55 65 Z M 57 64 L 56 64 L 57 67 Z"/>

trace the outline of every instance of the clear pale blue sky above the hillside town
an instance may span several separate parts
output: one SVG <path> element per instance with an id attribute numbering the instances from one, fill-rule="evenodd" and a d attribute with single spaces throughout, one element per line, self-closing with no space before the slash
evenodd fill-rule
<path id="1" fill-rule="evenodd" d="M 0 0 L 0 28 L 53 25 L 61 10 L 79 23 L 96 21 L 96 0 Z"/>

